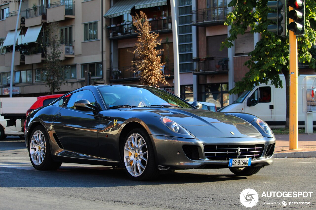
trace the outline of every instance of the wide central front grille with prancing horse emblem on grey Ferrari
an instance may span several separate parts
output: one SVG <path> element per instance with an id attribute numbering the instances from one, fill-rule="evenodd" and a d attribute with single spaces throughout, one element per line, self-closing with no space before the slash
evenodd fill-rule
<path id="1" fill-rule="evenodd" d="M 240 148 L 240 155 L 237 150 Z M 262 155 L 263 144 L 252 145 L 205 145 L 204 153 L 209 160 L 228 160 L 229 158 L 257 159 Z"/>

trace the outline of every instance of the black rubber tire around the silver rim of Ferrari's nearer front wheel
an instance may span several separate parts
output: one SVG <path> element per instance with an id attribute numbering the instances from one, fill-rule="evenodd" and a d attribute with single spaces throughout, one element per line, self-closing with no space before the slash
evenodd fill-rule
<path id="1" fill-rule="evenodd" d="M 125 165 L 125 157 L 124 157 L 125 144 L 126 144 L 128 138 L 132 134 L 138 134 L 138 135 L 142 136 L 145 143 L 146 143 L 146 146 L 147 146 L 147 156 L 146 156 L 147 163 L 145 165 L 145 168 L 143 169 L 143 171 L 141 172 L 141 174 L 139 176 L 131 175 L 131 173 L 128 171 L 128 169 Z M 159 176 L 159 170 L 158 170 L 158 166 L 156 165 L 156 161 L 155 161 L 155 153 L 154 153 L 153 145 L 152 145 L 150 137 L 145 129 L 135 128 L 127 134 L 127 136 L 125 137 L 124 144 L 122 144 L 122 146 L 121 146 L 121 155 L 122 155 L 122 160 L 123 160 L 125 172 L 128 175 L 128 177 L 131 178 L 132 180 L 136 180 L 136 181 L 153 180 Z M 141 159 L 139 159 L 139 160 L 141 160 Z"/>

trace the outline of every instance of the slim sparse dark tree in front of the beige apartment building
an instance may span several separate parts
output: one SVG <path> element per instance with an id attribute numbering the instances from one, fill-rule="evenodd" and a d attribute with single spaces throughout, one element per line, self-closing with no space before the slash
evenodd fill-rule
<path id="1" fill-rule="evenodd" d="M 61 66 L 60 55 L 62 50 L 60 48 L 59 27 L 57 22 L 52 22 L 48 25 L 47 30 L 48 42 L 44 45 L 44 52 L 46 60 L 44 62 L 44 68 L 46 69 L 46 85 L 52 94 L 55 94 L 55 90 L 60 90 L 60 86 L 63 83 L 63 71 Z"/>

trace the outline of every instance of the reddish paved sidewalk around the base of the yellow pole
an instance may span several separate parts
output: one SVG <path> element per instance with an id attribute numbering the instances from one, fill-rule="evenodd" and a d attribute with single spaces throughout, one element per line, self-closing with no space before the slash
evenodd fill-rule
<path id="1" fill-rule="evenodd" d="M 274 158 L 316 157 L 316 133 L 299 134 L 298 149 L 289 149 L 289 134 L 275 135 Z"/>

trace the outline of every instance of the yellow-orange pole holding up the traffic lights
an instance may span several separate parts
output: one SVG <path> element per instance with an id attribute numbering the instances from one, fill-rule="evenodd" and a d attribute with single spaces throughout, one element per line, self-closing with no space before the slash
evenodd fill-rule
<path id="1" fill-rule="evenodd" d="M 292 10 L 289 7 L 289 10 Z M 293 22 L 289 19 L 289 22 Z M 290 43 L 290 149 L 298 149 L 298 97 L 297 97 L 297 39 L 293 31 L 289 31 Z"/>

